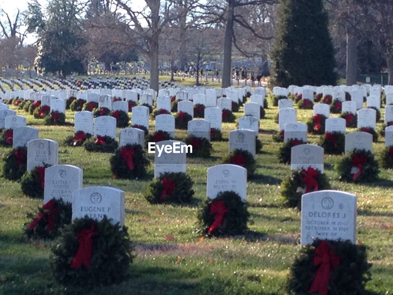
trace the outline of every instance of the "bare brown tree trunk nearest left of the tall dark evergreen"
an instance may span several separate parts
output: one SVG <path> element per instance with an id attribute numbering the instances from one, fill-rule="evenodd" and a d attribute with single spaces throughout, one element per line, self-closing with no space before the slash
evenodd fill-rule
<path id="1" fill-rule="evenodd" d="M 222 88 L 231 86 L 231 66 L 232 66 L 232 37 L 233 37 L 233 0 L 228 1 L 228 19 L 226 20 L 224 37 L 224 61 L 222 63 Z"/>

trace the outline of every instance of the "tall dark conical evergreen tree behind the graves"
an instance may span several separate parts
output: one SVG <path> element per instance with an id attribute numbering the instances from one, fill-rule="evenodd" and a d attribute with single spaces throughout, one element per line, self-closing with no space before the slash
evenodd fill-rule
<path id="1" fill-rule="evenodd" d="M 271 60 L 276 86 L 336 84 L 334 49 L 322 0 L 281 0 Z"/>

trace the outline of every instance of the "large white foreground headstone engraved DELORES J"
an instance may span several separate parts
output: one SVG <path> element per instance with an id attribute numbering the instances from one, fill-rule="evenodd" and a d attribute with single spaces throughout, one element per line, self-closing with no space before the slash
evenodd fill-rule
<path id="1" fill-rule="evenodd" d="M 301 245 L 320 240 L 356 243 L 357 198 L 335 190 L 321 190 L 301 197 Z"/>

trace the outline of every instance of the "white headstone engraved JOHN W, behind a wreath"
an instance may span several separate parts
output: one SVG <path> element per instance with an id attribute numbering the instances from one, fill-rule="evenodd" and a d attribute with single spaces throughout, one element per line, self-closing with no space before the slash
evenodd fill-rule
<path id="1" fill-rule="evenodd" d="M 215 199 L 220 192 L 233 191 L 243 201 L 246 201 L 247 169 L 232 164 L 221 164 L 208 168 L 206 190 L 209 199 Z"/>

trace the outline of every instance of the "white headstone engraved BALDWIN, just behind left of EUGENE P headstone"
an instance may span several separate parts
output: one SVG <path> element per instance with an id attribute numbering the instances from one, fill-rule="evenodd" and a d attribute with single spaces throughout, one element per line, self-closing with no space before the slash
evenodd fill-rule
<path id="1" fill-rule="evenodd" d="M 44 204 L 51 199 L 72 203 L 72 193 L 83 186 L 83 170 L 72 165 L 55 165 L 45 170 Z"/>

